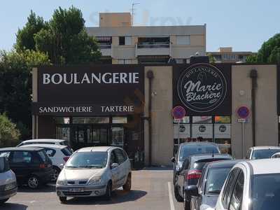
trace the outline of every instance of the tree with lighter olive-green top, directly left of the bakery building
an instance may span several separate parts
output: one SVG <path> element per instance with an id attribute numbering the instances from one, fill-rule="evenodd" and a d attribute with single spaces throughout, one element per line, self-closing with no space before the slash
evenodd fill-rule
<path id="1" fill-rule="evenodd" d="M 31 68 L 39 65 L 50 65 L 43 52 L 0 53 L 0 113 L 18 125 L 23 139 L 31 134 Z"/>

